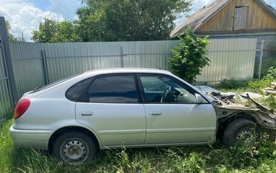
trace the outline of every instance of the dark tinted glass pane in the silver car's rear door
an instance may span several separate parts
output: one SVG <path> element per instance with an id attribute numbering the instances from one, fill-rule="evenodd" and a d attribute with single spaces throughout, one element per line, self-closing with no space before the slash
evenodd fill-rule
<path id="1" fill-rule="evenodd" d="M 83 100 L 93 103 L 138 103 L 134 76 L 96 78 Z"/>

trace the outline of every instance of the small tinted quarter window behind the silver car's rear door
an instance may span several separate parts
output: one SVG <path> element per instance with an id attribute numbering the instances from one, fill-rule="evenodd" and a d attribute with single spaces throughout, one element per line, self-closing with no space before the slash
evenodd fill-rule
<path id="1" fill-rule="evenodd" d="M 70 87 L 70 89 L 68 89 L 68 91 L 66 92 L 67 99 L 73 102 L 77 102 L 77 100 L 81 96 L 81 93 L 83 93 L 86 87 L 88 87 L 88 84 L 91 82 L 91 80 L 92 78 L 88 78 Z"/>

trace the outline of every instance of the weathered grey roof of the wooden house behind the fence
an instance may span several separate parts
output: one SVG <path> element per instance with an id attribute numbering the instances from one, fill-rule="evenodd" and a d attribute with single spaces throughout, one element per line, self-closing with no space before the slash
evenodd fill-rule
<path id="1" fill-rule="evenodd" d="M 215 14 L 217 14 L 217 12 L 219 12 L 222 8 L 228 5 L 230 1 L 232 0 L 217 0 L 211 3 L 210 5 L 204 6 L 194 14 L 188 16 L 188 19 L 186 19 L 184 23 L 181 23 L 179 26 L 177 26 L 175 30 L 172 30 L 172 32 L 170 33 L 170 37 L 174 38 L 183 34 L 182 28 L 190 27 L 193 31 L 197 31 L 199 27 L 201 27 L 207 21 L 209 21 L 209 19 L 211 19 Z M 254 0 L 254 1 L 256 1 L 267 12 L 269 12 L 276 18 L 276 10 L 272 6 L 266 4 L 264 0 Z"/>

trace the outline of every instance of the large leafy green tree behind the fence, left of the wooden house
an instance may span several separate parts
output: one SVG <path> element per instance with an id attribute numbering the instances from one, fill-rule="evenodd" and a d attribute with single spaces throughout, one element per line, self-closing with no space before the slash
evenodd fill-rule
<path id="1" fill-rule="evenodd" d="M 83 0 L 77 10 L 83 41 L 166 40 L 190 0 Z"/>

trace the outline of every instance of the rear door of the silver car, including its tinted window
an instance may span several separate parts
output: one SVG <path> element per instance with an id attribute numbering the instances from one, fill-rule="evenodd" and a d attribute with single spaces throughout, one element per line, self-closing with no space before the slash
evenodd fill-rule
<path id="1" fill-rule="evenodd" d="M 95 130 L 102 146 L 142 144 L 146 115 L 134 74 L 97 76 L 76 104 L 77 122 Z"/>

